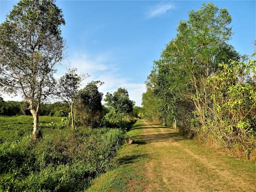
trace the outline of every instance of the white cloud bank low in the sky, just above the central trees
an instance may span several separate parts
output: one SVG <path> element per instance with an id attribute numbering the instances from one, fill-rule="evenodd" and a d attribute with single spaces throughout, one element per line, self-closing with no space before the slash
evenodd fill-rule
<path id="1" fill-rule="evenodd" d="M 101 54 L 93 59 L 85 53 L 75 53 L 70 58 L 63 61 L 63 64 L 58 66 L 58 71 L 55 77 L 60 77 L 66 72 L 66 68 L 77 68 L 78 73 L 88 73 L 90 76 L 86 78 L 81 86 L 83 88 L 87 82 L 92 80 L 103 81 L 104 84 L 99 87 L 99 91 L 114 92 L 117 88 L 126 88 L 129 93 L 129 98 L 135 101 L 137 106 L 141 105 L 141 95 L 145 92 L 143 83 L 131 83 L 129 78 L 124 77 L 119 73 L 118 67 L 114 65 L 110 54 Z M 22 100 L 21 96 L 11 97 L 2 94 L 4 100 Z M 55 101 L 55 100 L 53 100 Z M 103 102 L 102 102 L 103 103 Z"/>

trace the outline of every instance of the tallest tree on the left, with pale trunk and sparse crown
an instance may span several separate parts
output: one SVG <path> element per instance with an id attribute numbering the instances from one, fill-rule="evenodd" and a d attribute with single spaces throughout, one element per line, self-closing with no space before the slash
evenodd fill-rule
<path id="1" fill-rule="evenodd" d="M 0 87 L 28 101 L 34 139 L 41 135 L 40 104 L 54 90 L 54 66 L 63 56 L 61 24 L 54 0 L 20 0 L 0 24 Z"/>

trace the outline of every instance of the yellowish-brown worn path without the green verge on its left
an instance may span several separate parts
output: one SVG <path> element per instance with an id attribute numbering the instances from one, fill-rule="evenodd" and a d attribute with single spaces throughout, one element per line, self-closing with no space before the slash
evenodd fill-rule
<path id="1" fill-rule="evenodd" d="M 142 131 L 133 138 L 149 159 L 140 167 L 143 177 L 134 181 L 138 191 L 256 191 L 253 163 L 248 172 L 246 162 L 197 145 L 175 129 L 145 120 L 138 127 Z"/>

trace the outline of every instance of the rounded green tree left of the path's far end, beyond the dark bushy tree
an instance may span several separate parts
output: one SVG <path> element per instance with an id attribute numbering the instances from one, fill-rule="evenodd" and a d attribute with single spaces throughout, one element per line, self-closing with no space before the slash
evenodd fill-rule
<path id="1" fill-rule="evenodd" d="M 132 111 L 135 102 L 129 99 L 128 91 L 125 88 L 118 88 L 113 94 L 107 92 L 104 98 L 106 105 L 115 111 L 129 113 Z"/>

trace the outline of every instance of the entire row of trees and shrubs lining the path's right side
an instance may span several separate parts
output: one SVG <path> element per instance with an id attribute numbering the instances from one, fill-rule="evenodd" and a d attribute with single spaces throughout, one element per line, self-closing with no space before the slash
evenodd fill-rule
<path id="1" fill-rule="evenodd" d="M 145 118 L 249 158 L 256 152 L 256 64 L 228 43 L 230 23 L 227 9 L 211 2 L 189 11 L 153 62 L 142 108 Z"/>

